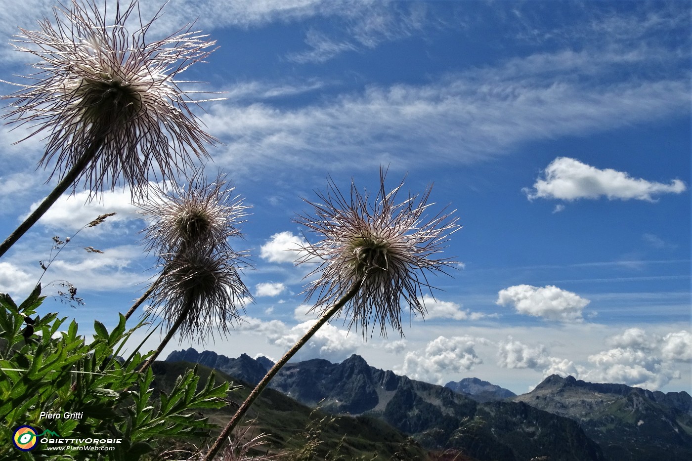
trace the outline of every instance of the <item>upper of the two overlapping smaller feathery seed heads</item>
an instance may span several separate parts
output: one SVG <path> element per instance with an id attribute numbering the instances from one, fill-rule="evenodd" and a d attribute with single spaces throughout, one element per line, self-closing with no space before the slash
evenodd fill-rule
<path id="1" fill-rule="evenodd" d="M 187 186 L 173 184 L 170 189 L 154 187 L 149 191 L 140 213 L 149 220 L 145 228 L 147 251 L 175 254 L 189 246 L 227 248 L 228 237 L 240 236 L 239 224 L 248 215 L 235 188 L 224 174 L 209 182 L 197 170 L 187 178 Z"/>

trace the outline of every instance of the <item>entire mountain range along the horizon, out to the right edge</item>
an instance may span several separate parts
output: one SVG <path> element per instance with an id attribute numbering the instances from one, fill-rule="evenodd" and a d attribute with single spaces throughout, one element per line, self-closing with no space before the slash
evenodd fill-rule
<path id="1" fill-rule="evenodd" d="M 201 363 L 257 383 L 273 365 L 194 349 L 167 361 Z M 516 396 L 476 378 L 445 387 L 367 365 L 288 363 L 270 384 L 307 406 L 340 415 L 378 417 L 428 449 L 453 447 L 470 459 L 529 461 L 692 459 L 692 397 L 553 375 Z M 545 458 L 541 458 L 545 457 Z"/>

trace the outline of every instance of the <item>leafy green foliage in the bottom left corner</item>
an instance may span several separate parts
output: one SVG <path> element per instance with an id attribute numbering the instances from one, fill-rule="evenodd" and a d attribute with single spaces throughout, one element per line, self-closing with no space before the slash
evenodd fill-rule
<path id="1" fill-rule="evenodd" d="M 215 428 L 196 410 L 224 406 L 228 383 L 215 386 L 210 376 L 201 385 L 195 368 L 185 370 L 170 392 L 155 394 L 151 368 L 140 372 L 151 352 L 140 354 L 137 347 L 120 359 L 125 343 L 143 323 L 126 329 L 120 314 L 118 325 L 108 332 L 96 320 L 93 341 L 87 343 L 74 320 L 64 330 L 66 318 L 35 316 L 44 298 L 40 284 L 19 306 L 0 294 L 0 440 L 6 441 L 0 444 L 0 460 L 139 460 L 163 438 L 206 437 Z M 47 419 L 42 412 L 77 417 Z M 10 442 L 22 425 L 63 438 L 122 443 L 106 452 L 55 452 L 40 443 L 22 452 Z"/>

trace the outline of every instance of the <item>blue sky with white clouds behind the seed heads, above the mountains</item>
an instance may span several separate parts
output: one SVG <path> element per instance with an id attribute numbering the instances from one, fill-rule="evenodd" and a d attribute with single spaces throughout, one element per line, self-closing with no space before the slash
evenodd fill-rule
<path id="1" fill-rule="evenodd" d="M 3 80 L 30 72 L 31 56 L 7 44 L 17 25 L 35 28 L 50 8 L 3 6 Z M 517 393 L 552 373 L 692 391 L 689 3 L 172 0 L 164 12 L 154 33 L 197 18 L 217 40 L 183 74 L 205 83 L 185 88 L 224 92 L 197 112 L 221 141 L 206 171 L 226 172 L 253 206 L 235 248 L 255 268 L 243 273 L 246 322 L 164 356 L 190 345 L 281 356 L 312 321 L 309 269 L 285 251 L 302 238 L 301 197 L 327 175 L 375 188 L 388 165 L 390 187 L 434 183 L 432 201 L 457 210 L 464 227 L 446 254 L 460 264 L 432 280 L 428 316 L 407 321 L 405 338 L 363 342 L 336 320 L 299 359 L 357 353 L 412 378 L 475 376 Z M 12 145 L 21 137 L 0 129 L 3 235 L 53 186 L 36 169 L 42 140 Z M 95 318 L 113 325 L 155 273 L 129 190 L 85 206 L 87 193 L 61 199 L 0 260 L 0 291 L 26 296 L 51 236 L 117 212 L 44 277 L 78 287 L 86 305 L 44 306 L 85 333 Z"/>

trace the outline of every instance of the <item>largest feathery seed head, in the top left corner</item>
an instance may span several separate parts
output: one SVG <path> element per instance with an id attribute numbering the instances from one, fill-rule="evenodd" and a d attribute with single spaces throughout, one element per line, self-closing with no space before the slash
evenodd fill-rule
<path id="1" fill-rule="evenodd" d="M 52 23 L 20 29 L 13 45 L 39 62 L 30 82 L 4 96 L 15 100 L 5 118 L 28 125 L 27 138 L 46 133 L 39 164 L 56 158 L 51 176 L 62 177 L 89 155 L 75 188 L 81 180 L 94 192 L 113 188 L 122 174 L 139 195 L 149 173 L 172 177 L 192 163 L 188 151 L 208 156 L 206 144 L 215 138 L 199 127 L 190 111 L 195 102 L 174 78 L 208 56 L 215 42 L 190 29 L 147 42 L 160 13 L 147 22 L 136 0 L 126 8 L 116 0 L 113 24 L 107 24 L 95 0 L 72 0 L 70 8 L 55 8 Z M 128 22 L 137 24 L 132 33 Z"/>

